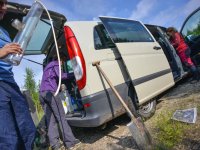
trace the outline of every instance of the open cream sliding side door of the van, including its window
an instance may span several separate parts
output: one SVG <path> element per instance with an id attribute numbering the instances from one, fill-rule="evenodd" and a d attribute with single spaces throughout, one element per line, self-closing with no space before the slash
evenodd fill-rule
<path id="1" fill-rule="evenodd" d="M 100 20 L 116 44 L 140 104 L 174 85 L 163 50 L 142 23 L 110 17 Z"/>

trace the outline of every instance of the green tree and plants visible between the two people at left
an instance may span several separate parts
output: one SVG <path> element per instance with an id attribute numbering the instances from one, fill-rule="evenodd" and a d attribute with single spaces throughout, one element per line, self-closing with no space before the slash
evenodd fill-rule
<path id="1" fill-rule="evenodd" d="M 26 68 L 25 70 L 26 75 L 25 75 L 25 85 L 24 88 L 30 91 L 30 95 L 33 99 L 38 119 L 40 120 L 44 114 L 42 106 L 40 105 L 39 101 L 39 84 L 37 85 L 35 80 L 34 80 L 34 73 L 33 70 L 30 68 Z"/>

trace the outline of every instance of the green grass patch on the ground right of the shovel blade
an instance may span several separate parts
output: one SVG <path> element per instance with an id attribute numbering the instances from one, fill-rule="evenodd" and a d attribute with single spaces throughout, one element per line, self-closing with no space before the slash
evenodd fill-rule
<path id="1" fill-rule="evenodd" d="M 184 132 L 189 125 L 171 119 L 172 112 L 158 115 L 156 122 L 156 148 L 155 150 L 172 149 L 182 141 Z"/>

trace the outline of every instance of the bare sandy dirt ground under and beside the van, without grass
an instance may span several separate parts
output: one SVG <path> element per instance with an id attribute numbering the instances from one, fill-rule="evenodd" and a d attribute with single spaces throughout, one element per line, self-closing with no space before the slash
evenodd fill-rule
<path id="1" fill-rule="evenodd" d="M 155 115 L 145 122 L 153 140 L 155 120 L 160 113 L 197 107 L 200 108 L 200 83 L 190 84 L 188 81 L 178 83 L 174 88 L 160 97 Z M 183 141 L 174 147 L 177 150 L 200 149 L 200 113 L 195 124 L 191 124 Z M 130 150 L 137 149 L 126 124 L 129 118 L 123 115 L 100 128 L 73 128 L 75 136 L 82 142 L 77 150 Z M 155 141 L 154 141 L 155 142 Z"/>

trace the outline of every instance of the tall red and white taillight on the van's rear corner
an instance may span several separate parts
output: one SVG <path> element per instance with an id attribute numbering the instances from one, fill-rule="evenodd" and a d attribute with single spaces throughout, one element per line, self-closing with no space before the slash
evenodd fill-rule
<path id="1" fill-rule="evenodd" d="M 70 27 L 65 26 L 66 45 L 79 90 L 86 85 L 86 66 L 78 41 Z"/>

